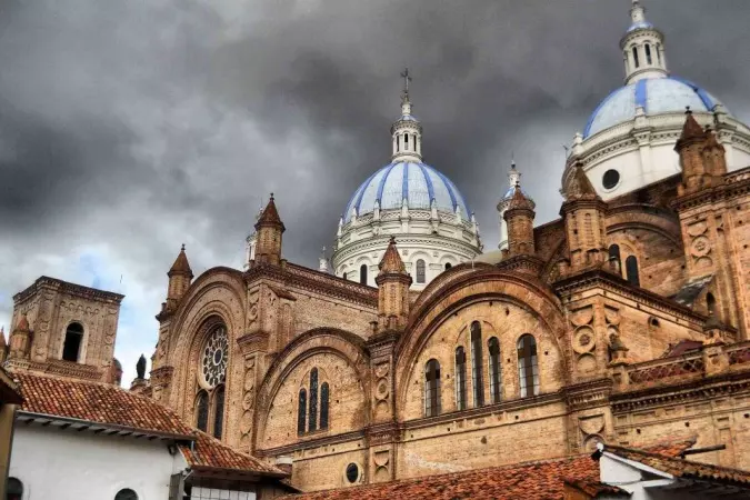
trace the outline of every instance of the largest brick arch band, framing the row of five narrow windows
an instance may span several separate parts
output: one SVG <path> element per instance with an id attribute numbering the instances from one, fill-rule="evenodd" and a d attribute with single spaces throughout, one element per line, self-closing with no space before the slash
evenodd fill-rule
<path id="1" fill-rule="evenodd" d="M 549 287 L 536 278 L 510 273 L 497 268 L 482 269 L 449 281 L 439 293 L 413 311 L 407 333 L 397 346 L 397 408 L 404 407 L 409 377 L 430 337 L 451 314 L 478 302 L 507 301 L 529 311 L 539 321 L 547 340 L 557 348 L 561 373 L 570 377 L 570 352 L 562 341 L 567 327 L 564 311 Z"/>

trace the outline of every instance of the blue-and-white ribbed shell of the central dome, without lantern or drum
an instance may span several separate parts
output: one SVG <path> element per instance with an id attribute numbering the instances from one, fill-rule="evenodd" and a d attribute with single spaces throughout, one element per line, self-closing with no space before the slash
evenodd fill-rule
<path id="1" fill-rule="evenodd" d="M 424 163 L 397 161 L 374 172 L 354 191 L 343 212 L 344 221 L 351 219 L 352 208 L 358 216 L 372 212 L 376 201 L 380 201 L 381 210 L 400 209 L 404 198 L 410 209 L 429 210 L 434 199 L 438 210 L 454 212 L 460 207 L 463 217 L 471 213 L 456 184 L 446 176 Z"/>

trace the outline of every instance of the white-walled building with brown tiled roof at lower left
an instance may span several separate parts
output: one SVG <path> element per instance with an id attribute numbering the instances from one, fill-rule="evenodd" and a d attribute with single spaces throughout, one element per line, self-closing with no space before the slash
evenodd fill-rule
<path id="1" fill-rule="evenodd" d="M 256 500 L 287 473 L 189 428 L 150 398 L 101 382 L 12 373 L 9 486 L 20 500 Z M 14 497 L 19 498 L 19 497 Z"/>

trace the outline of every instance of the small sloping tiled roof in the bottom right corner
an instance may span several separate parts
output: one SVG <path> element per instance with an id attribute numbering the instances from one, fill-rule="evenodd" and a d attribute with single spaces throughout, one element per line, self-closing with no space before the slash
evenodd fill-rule
<path id="1" fill-rule="evenodd" d="M 730 484 L 750 484 L 750 472 L 728 467 L 711 466 L 707 463 L 692 462 L 674 457 L 653 453 L 651 451 L 636 450 L 632 448 L 604 446 L 604 451 L 617 454 L 629 460 L 652 467 L 653 469 L 667 472 L 676 478 L 701 479 L 707 481 L 719 481 Z"/>

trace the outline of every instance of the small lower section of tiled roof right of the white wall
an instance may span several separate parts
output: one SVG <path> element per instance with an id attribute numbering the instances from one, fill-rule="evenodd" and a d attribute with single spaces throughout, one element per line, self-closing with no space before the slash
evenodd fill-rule
<path id="1" fill-rule="evenodd" d="M 274 476 L 287 476 L 281 469 L 264 463 L 246 453 L 240 453 L 216 438 L 194 431 L 196 443 L 180 444 L 180 451 L 191 468 L 232 469 Z"/>

